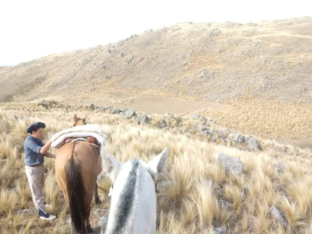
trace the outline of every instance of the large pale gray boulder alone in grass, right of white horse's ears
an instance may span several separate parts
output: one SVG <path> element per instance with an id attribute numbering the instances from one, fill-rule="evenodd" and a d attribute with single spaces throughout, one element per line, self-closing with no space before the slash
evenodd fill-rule
<path id="1" fill-rule="evenodd" d="M 231 171 L 236 175 L 241 175 L 243 173 L 244 165 L 238 158 L 217 153 L 216 163 L 221 163 L 226 173 L 230 173 Z"/>

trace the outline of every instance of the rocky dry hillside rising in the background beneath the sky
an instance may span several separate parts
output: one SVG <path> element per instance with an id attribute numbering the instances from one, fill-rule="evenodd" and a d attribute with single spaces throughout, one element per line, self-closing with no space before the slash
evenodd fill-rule
<path id="1" fill-rule="evenodd" d="M 312 18 L 179 23 L 0 68 L 0 102 L 103 98 L 109 90 L 195 100 L 312 100 Z"/>

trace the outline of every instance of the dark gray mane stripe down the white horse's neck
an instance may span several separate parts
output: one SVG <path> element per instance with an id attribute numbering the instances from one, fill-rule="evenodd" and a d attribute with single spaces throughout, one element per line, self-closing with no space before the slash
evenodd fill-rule
<path id="1" fill-rule="evenodd" d="M 137 200 L 139 175 L 141 162 L 139 159 L 132 159 L 131 170 L 127 177 L 125 186 L 120 193 L 117 203 L 118 211 L 115 213 L 115 225 L 111 228 L 110 233 L 127 233 L 127 226 L 133 221 L 133 213 L 135 212 L 135 204 Z"/>

